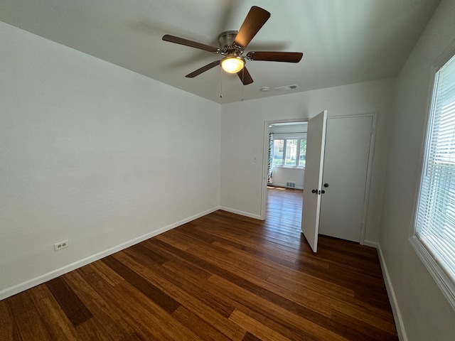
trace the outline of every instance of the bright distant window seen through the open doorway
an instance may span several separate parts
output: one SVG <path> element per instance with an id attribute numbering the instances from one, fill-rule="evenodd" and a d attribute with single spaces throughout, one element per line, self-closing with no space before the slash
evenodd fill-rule
<path id="1" fill-rule="evenodd" d="M 306 139 L 275 139 L 273 166 L 305 167 Z"/>

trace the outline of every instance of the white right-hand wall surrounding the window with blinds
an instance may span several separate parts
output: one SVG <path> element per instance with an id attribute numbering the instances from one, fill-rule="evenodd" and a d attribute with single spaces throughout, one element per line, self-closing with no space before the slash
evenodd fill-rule
<path id="1" fill-rule="evenodd" d="M 454 340 L 455 311 L 412 249 L 432 63 L 455 39 L 455 1 L 442 1 L 397 79 L 380 250 L 408 340 Z"/>

